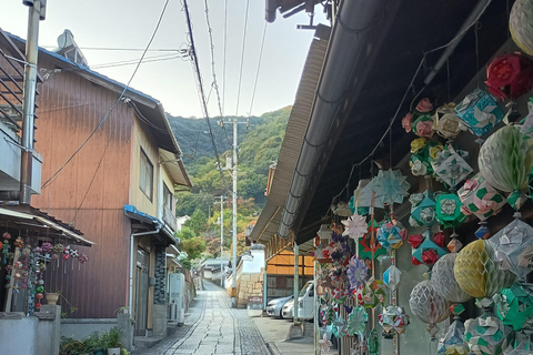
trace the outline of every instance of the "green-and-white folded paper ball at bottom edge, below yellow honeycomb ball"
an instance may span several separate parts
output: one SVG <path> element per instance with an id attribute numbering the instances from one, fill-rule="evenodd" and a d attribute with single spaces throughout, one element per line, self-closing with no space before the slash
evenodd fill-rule
<path id="1" fill-rule="evenodd" d="M 513 341 L 513 329 L 494 315 L 483 315 L 464 323 L 464 338 L 475 355 L 499 355 Z"/>

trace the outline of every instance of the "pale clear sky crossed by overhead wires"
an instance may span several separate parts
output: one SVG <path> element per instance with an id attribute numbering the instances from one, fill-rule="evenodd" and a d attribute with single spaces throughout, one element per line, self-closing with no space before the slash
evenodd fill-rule
<path id="1" fill-rule="evenodd" d="M 170 0 L 151 49 L 187 48 L 188 29 L 182 0 Z M 296 24 L 309 24 L 309 17 L 300 12 L 283 19 L 279 13 L 266 27 L 261 70 L 252 102 L 261 39 L 264 28 L 264 0 L 249 0 L 248 30 L 242 65 L 241 92 L 238 95 L 241 69 L 247 0 L 228 0 L 228 40 L 225 90 L 224 68 L 224 0 L 207 0 L 214 45 L 217 82 L 224 115 L 260 115 L 292 104 L 309 51 L 312 30 L 298 30 Z M 21 0 L 2 3 L 0 28 L 27 38 L 28 8 Z M 138 60 L 142 51 L 91 50 L 90 48 L 144 49 L 155 29 L 165 0 L 48 0 L 47 18 L 40 22 L 39 44 L 57 47 L 57 38 L 69 29 L 82 49 L 89 67 L 119 82 L 127 83 L 135 65 L 98 65 Z M 193 36 L 205 94 L 209 95 L 209 115 L 220 115 L 213 83 L 211 51 L 205 21 L 204 0 L 189 0 Z M 316 7 L 314 22 L 326 23 L 322 7 Z M 173 57 L 174 52 L 150 51 L 151 57 Z M 152 59 L 143 62 L 131 87 L 162 102 L 172 115 L 203 118 L 194 73 L 190 60 Z M 97 69 L 98 68 L 98 69 Z M 239 105 L 238 105 L 239 101 Z M 252 109 L 250 111 L 250 109 Z"/>

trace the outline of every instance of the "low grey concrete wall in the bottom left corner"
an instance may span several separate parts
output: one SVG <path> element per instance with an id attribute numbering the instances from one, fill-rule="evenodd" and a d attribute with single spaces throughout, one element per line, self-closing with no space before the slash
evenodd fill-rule
<path id="1" fill-rule="evenodd" d="M 60 306 L 41 306 L 34 316 L 23 313 L 0 313 L 0 348 L 2 354 L 59 354 Z"/>

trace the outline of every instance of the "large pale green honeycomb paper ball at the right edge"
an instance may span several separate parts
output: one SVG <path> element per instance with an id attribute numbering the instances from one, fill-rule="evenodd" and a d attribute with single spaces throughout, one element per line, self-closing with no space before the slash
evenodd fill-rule
<path id="1" fill-rule="evenodd" d="M 533 165 L 529 140 L 515 125 L 506 125 L 492 134 L 481 146 L 480 173 L 493 187 L 511 192 L 507 202 L 519 210 L 521 191 L 527 189 L 527 173 Z"/>

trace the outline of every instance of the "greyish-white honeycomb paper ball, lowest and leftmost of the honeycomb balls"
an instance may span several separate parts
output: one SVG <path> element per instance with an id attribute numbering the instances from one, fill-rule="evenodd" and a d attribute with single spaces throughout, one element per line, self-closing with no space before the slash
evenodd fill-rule
<path id="1" fill-rule="evenodd" d="M 450 315 L 450 304 L 436 293 L 431 280 L 424 280 L 414 286 L 409 297 L 409 306 L 415 316 L 430 324 L 428 332 L 431 334 L 431 339 L 434 341 L 435 334 L 439 333 L 436 323 L 444 321 Z"/>

